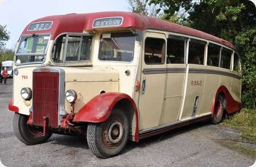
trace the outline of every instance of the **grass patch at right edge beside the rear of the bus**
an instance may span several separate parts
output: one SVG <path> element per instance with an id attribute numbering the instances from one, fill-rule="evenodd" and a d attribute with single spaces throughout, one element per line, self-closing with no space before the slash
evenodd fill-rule
<path id="1" fill-rule="evenodd" d="M 256 111 L 243 108 L 240 112 L 228 116 L 221 123 L 223 126 L 234 127 L 242 132 L 241 137 L 256 144 Z"/>

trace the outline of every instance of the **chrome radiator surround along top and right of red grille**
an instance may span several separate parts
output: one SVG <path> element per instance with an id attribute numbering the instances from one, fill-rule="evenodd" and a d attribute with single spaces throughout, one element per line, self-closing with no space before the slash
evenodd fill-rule
<path id="1" fill-rule="evenodd" d="M 42 70 L 41 69 L 49 69 L 49 70 Z M 56 67 L 38 67 L 33 70 L 33 73 L 59 73 L 59 106 L 58 106 L 58 124 L 60 126 L 61 123 L 61 113 L 64 111 L 65 108 L 65 71 L 61 68 Z M 33 79 L 32 79 L 33 80 Z"/>

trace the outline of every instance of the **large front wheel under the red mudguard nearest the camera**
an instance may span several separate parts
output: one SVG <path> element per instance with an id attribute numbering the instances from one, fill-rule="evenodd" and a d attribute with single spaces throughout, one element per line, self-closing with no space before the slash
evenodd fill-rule
<path id="1" fill-rule="evenodd" d="M 126 114 L 114 109 L 109 118 L 102 123 L 89 123 L 87 143 L 90 151 L 98 158 L 118 155 L 126 146 L 129 135 L 129 122 Z"/>

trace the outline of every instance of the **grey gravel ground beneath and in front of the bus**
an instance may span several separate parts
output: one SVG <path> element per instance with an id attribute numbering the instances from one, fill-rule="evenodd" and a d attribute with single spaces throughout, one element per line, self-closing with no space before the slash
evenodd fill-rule
<path id="1" fill-rule="evenodd" d="M 134 143 L 124 152 L 102 160 L 88 148 L 86 139 L 53 135 L 47 143 L 27 146 L 13 133 L 14 113 L 7 109 L 12 85 L 0 85 L 0 160 L 5 166 L 251 166 L 254 159 L 218 140 L 236 140 L 232 128 L 197 123 Z M 255 148 L 255 145 L 253 145 Z"/>

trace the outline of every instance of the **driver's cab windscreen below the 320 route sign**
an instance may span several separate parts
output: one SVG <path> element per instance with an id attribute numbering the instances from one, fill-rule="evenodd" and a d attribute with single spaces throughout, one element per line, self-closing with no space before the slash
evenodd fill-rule
<path id="1" fill-rule="evenodd" d="M 46 57 L 50 35 L 22 36 L 15 53 L 16 64 L 33 64 L 43 62 Z"/>

